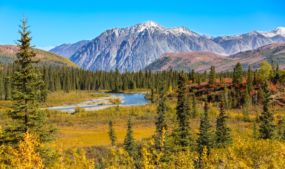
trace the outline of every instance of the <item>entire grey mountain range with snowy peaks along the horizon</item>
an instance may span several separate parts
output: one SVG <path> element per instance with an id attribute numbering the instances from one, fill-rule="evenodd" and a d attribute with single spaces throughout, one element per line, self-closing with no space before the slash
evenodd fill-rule
<path id="1" fill-rule="evenodd" d="M 228 56 L 270 44 L 285 42 L 285 28 L 252 31 L 234 36 L 199 35 L 187 28 L 164 28 L 147 21 L 129 28 L 112 28 L 91 41 L 63 44 L 50 52 L 62 55 L 84 69 L 137 71 L 164 53 L 208 51 Z"/>

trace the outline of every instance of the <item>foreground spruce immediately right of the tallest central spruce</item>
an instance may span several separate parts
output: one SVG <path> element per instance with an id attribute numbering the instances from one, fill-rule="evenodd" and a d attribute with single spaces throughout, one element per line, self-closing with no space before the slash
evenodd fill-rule
<path id="1" fill-rule="evenodd" d="M 210 124 L 208 111 L 209 111 L 209 106 L 206 101 L 204 106 L 204 116 L 200 120 L 199 133 L 197 134 L 198 135 L 197 144 L 198 144 L 199 153 L 203 152 L 203 148 L 205 145 L 207 146 L 208 149 L 213 147 L 213 138 L 211 131 L 213 125 Z"/>

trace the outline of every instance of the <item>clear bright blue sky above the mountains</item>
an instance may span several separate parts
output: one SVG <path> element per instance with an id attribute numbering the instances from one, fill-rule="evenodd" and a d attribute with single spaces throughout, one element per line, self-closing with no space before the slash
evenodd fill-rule
<path id="1" fill-rule="evenodd" d="M 148 20 L 165 28 L 186 27 L 200 35 L 237 35 L 285 27 L 285 1 L 1 1 L 0 44 L 12 44 L 23 14 L 32 45 L 49 50 L 91 40 L 110 28 Z"/>

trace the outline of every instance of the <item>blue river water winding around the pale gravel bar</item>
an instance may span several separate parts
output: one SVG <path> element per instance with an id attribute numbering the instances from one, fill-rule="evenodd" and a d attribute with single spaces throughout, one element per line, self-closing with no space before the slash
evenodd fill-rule
<path id="1" fill-rule="evenodd" d="M 101 92 L 90 92 L 90 93 L 101 93 Z M 112 94 L 115 96 L 123 96 L 124 98 L 121 100 L 124 102 L 119 104 L 119 105 L 123 105 L 123 106 L 125 106 L 125 105 L 145 105 L 146 103 L 149 102 L 148 99 L 144 98 L 144 93 L 107 93 L 107 94 Z M 84 103 L 92 103 L 92 102 L 96 102 L 96 101 L 87 101 Z M 78 105 L 79 107 L 81 107 L 80 104 L 82 104 L 82 103 L 75 104 L 75 105 Z M 102 105 L 84 106 L 84 108 L 99 107 L 99 106 L 102 106 Z M 81 108 L 83 108 L 83 106 Z M 70 110 L 70 109 L 74 109 L 74 107 L 62 108 L 61 110 Z M 53 110 L 59 110 L 59 109 L 53 109 Z"/>

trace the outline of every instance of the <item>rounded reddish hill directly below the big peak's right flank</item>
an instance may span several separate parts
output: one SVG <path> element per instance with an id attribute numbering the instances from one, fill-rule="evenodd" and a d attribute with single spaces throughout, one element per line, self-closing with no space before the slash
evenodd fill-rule
<path id="1" fill-rule="evenodd" d="M 145 68 L 151 68 L 151 70 L 154 72 L 170 70 L 171 68 L 174 70 L 184 70 L 187 72 L 190 69 L 194 69 L 195 71 L 204 71 L 208 70 L 212 64 L 215 66 L 222 66 L 233 61 L 233 59 L 206 51 L 164 53 L 161 57 L 156 59 Z"/>

